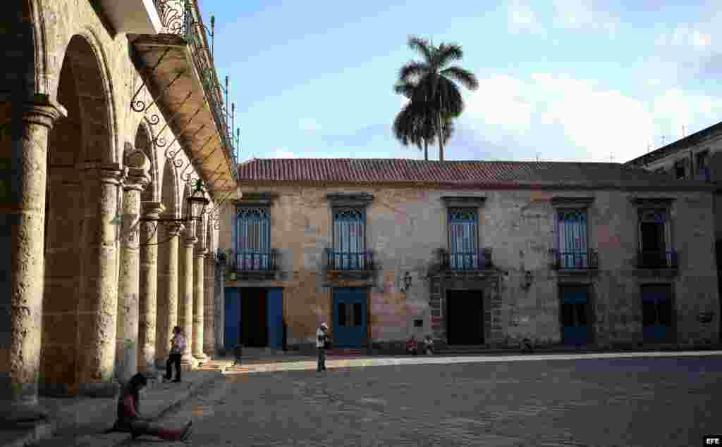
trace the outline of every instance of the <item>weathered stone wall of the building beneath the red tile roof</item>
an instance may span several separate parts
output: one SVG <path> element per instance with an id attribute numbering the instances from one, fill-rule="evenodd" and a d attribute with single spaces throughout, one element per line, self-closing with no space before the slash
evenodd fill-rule
<path id="1" fill-rule="evenodd" d="M 624 190 L 425 190 L 404 187 L 246 187 L 253 200 L 269 192 L 271 247 L 279 252 L 279 272 L 271 280 L 226 278 L 226 288 L 281 287 L 287 342 L 310 345 L 316 327 L 331 322 L 334 287 L 368 288 L 368 337 L 374 345 L 400 346 L 414 334 L 446 342 L 445 296 L 451 290 L 484 293 L 484 342 L 490 347 L 557 345 L 560 286 L 588 284 L 593 307 L 592 342 L 599 346 L 642 340 L 640 287 L 671 284 L 676 319 L 674 342 L 718 342 L 718 280 L 713 250 L 711 192 Z M 329 193 L 370 194 L 365 244 L 373 249 L 375 270 L 362 280 L 333 278 L 324 265 L 331 247 Z M 477 198 L 479 247 L 492 249 L 494 269 L 468 274 L 435 266 L 435 251 L 448 247 L 445 198 Z M 671 199 L 671 238 L 679 269 L 656 271 L 635 264 L 638 205 L 635 200 Z M 473 200 L 473 199 L 472 199 Z M 599 254 L 599 268 L 565 272 L 551 267 L 556 247 L 555 210 L 567 200 L 587 203 L 588 247 Z M 243 203 L 243 201 L 241 201 Z M 223 216 L 219 247 L 232 247 L 233 211 Z M 406 293 L 401 278 L 412 278 Z M 531 276 L 529 276 L 531 275 Z M 529 285 L 526 281 L 529 280 Z M 714 321 L 700 323 L 712 311 Z M 415 320 L 422 326 L 416 327 Z M 332 334 L 333 335 L 333 334 Z"/>

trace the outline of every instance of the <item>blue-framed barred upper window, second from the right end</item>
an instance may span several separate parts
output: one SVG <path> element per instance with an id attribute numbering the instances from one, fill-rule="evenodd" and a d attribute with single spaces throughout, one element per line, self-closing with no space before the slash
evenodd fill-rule
<path id="1" fill-rule="evenodd" d="M 562 210 L 557 216 L 560 267 L 587 268 L 589 252 L 586 210 Z"/>

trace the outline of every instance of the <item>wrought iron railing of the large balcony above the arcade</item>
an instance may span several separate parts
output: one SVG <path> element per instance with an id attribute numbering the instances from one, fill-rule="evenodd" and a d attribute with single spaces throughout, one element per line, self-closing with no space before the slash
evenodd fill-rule
<path id="1" fill-rule="evenodd" d="M 238 160 L 235 156 L 233 130 L 227 125 L 227 108 L 224 109 L 223 106 L 221 84 L 218 81 L 213 57 L 209 52 L 206 28 L 196 0 L 153 0 L 153 2 L 160 16 L 163 31 L 167 34 L 183 36 L 191 48 L 193 64 L 198 71 L 206 99 L 221 134 L 226 162 L 233 180 L 238 181 Z"/>

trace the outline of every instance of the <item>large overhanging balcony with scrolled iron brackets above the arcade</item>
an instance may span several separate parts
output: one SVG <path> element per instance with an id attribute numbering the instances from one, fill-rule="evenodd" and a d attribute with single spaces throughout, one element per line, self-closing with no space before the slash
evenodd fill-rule
<path id="1" fill-rule="evenodd" d="M 133 62 L 142 76 L 131 110 L 152 125 L 155 149 L 165 151 L 175 166 L 183 164 L 180 157 L 175 159 L 176 152 L 185 151 L 194 169 L 188 164 L 178 169 L 181 180 L 187 181 L 184 175 L 195 170 L 213 196 L 218 192 L 237 195 L 237 141 L 232 136 L 230 107 L 223 101 L 224 89 L 196 0 L 152 2 L 162 30 L 128 36 Z"/>

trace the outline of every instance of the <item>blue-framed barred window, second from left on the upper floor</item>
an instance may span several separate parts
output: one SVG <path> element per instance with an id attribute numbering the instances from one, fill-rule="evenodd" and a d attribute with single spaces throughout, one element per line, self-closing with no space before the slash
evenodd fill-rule
<path id="1" fill-rule="evenodd" d="M 338 270 L 362 270 L 364 265 L 364 211 L 334 209 L 334 249 L 331 256 Z"/>

